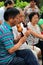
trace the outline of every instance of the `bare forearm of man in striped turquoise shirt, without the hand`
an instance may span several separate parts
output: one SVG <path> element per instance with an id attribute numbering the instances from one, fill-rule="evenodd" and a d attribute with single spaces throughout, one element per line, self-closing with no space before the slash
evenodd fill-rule
<path id="1" fill-rule="evenodd" d="M 26 36 L 23 36 L 18 43 L 16 43 L 14 45 L 14 47 L 12 47 L 11 49 L 8 50 L 8 52 L 10 54 L 14 53 L 16 50 L 18 50 L 18 48 L 26 41 L 27 37 Z"/>

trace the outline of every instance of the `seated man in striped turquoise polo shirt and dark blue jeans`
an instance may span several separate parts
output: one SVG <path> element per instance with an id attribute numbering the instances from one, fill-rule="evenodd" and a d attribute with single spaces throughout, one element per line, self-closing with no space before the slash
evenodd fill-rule
<path id="1" fill-rule="evenodd" d="M 26 41 L 30 31 L 26 31 L 18 43 L 14 43 L 12 26 L 22 20 L 22 15 L 17 9 L 10 8 L 4 13 L 6 22 L 0 25 L 0 65 L 39 65 L 35 56 L 30 50 L 23 50 L 22 56 L 16 56 L 15 51 Z M 25 54 L 26 52 L 26 54 Z"/>

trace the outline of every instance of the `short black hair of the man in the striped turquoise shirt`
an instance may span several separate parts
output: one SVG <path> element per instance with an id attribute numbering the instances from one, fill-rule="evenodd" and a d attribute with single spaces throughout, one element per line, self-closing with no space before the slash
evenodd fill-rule
<path id="1" fill-rule="evenodd" d="M 10 18 L 14 18 L 17 16 L 17 14 L 20 14 L 19 10 L 16 8 L 8 8 L 5 12 L 4 12 L 4 19 L 5 21 L 8 21 L 9 17 Z"/>

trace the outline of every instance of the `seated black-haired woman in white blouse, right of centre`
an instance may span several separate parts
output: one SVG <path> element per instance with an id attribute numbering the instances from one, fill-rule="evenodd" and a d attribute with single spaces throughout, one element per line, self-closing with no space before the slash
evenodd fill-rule
<path id="1" fill-rule="evenodd" d="M 39 20 L 39 15 L 38 13 L 31 13 L 29 15 L 29 20 L 30 22 L 28 23 L 28 28 L 32 29 L 34 32 L 38 33 L 39 34 L 39 37 L 41 36 L 41 31 L 40 31 L 40 28 L 39 26 L 37 25 L 38 23 L 38 20 Z M 43 25 L 43 24 L 42 24 Z M 32 33 L 31 33 L 32 34 Z M 34 33 L 33 33 L 34 35 Z M 41 44 L 42 42 L 40 42 L 40 44 L 37 44 L 38 41 L 39 41 L 39 38 L 36 38 L 37 37 L 37 34 L 35 34 L 35 37 L 30 35 L 27 39 L 27 42 L 30 44 L 30 45 L 34 45 L 36 47 L 39 47 L 41 50 L 43 49 Z M 40 46 L 39 46 L 40 45 Z M 39 48 L 35 48 L 33 47 L 34 50 L 38 53 L 38 56 L 40 55 L 40 51 L 38 52 L 38 49 Z M 43 51 L 42 51 L 43 52 Z M 43 62 L 43 54 L 42 54 L 42 62 Z"/>

